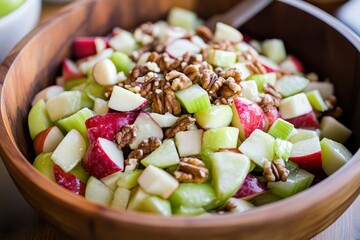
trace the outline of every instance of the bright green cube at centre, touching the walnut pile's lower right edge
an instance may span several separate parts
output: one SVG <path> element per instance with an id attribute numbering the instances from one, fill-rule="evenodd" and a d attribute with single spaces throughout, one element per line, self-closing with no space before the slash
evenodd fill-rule
<path id="1" fill-rule="evenodd" d="M 175 96 L 189 113 L 195 113 L 211 106 L 208 93 L 198 84 L 176 91 Z"/>

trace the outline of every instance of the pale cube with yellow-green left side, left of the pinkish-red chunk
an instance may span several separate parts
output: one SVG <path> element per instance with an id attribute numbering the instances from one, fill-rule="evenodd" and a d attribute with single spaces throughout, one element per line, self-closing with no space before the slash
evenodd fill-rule
<path id="1" fill-rule="evenodd" d="M 232 120 L 232 110 L 229 105 L 212 105 L 194 114 L 197 124 L 204 129 L 227 127 Z"/>

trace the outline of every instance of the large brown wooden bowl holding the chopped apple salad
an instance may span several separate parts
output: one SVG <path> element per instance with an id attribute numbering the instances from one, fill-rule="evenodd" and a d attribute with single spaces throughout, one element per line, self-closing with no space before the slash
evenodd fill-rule
<path id="1" fill-rule="evenodd" d="M 178 1 L 203 18 L 233 1 Z M 76 1 L 39 26 L 0 68 L 1 156 L 17 187 L 46 220 L 76 239 L 309 239 L 333 223 L 360 192 L 360 151 L 343 168 L 296 196 L 241 214 L 163 218 L 112 210 L 48 181 L 31 165 L 27 128 L 30 101 L 54 84 L 76 36 L 131 29 L 165 16 L 172 1 Z M 156 7 L 154 7 L 156 6 Z M 353 130 L 348 147 L 360 145 L 360 40 L 334 18 L 302 2 L 275 1 L 241 30 L 255 38 L 281 38 L 308 70 L 336 86 L 344 121 Z"/>

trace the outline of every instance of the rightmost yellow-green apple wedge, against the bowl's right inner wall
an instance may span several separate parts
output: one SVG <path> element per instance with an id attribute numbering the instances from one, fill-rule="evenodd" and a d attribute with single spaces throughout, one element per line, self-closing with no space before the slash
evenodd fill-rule
<path id="1" fill-rule="evenodd" d="M 328 138 L 320 141 L 322 169 L 330 176 L 352 158 L 352 153 L 341 143 Z"/>

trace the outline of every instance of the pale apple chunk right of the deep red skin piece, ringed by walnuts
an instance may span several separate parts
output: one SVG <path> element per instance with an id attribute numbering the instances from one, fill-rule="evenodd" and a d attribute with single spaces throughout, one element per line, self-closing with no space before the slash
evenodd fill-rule
<path id="1" fill-rule="evenodd" d="M 149 137 L 157 137 L 160 140 L 164 137 L 161 127 L 147 112 L 140 112 L 133 125 L 136 127 L 136 137 L 129 145 L 131 149 L 137 148 L 143 140 Z"/>

